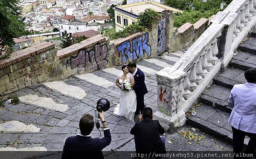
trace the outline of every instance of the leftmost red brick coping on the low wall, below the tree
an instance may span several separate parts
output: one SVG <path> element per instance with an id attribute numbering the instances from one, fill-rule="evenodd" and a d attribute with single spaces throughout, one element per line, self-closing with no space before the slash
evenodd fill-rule
<path id="1" fill-rule="evenodd" d="M 35 56 L 39 53 L 46 52 L 49 49 L 55 48 L 54 43 L 42 42 L 30 46 L 26 49 L 19 50 L 11 54 L 11 58 L 6 58 L 0 60 L 0 69 L 15 64 L 17 62 L 23 61 L 29 57 Z"/>

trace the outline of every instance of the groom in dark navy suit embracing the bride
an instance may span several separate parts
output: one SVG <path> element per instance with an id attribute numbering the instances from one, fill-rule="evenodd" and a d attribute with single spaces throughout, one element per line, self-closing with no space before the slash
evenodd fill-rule
<path id="1" fill-rule="evenodd" d="M 148 93 L 146 84 L 145 84 L 145 75 L 144 73 L 137 68 L 137 65 L 135 62 L 130 62 L 128 64 L 128 68 L 130 69 L 132 75 L 134 76 L 135 85 L 133 87 L 135 93 L 136 93 L 136 99 L 137 99 L 137 108 L 135 114 L 142 114 L 143 109 L 145 107 L 144 104 L 144 95 Z"/>

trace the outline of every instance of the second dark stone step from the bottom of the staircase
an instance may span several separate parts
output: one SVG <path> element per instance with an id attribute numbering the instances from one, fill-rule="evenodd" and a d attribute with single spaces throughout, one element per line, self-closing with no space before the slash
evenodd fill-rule
<path id="1" fill-rule="evenodd" d="M 201 103 L 210 106 L 213 105 L 213 102 L 215 103 L 215 106 L 224 106 L 228 104 L 230 91 L 231 89 L 229 88 L 213 84 L 209 89 L 204 91 L 199 99 Z M 218 109 L 227 113 L 231 113 L 232 111 L 232 108 L 230 107 L 218 107 Z"/>

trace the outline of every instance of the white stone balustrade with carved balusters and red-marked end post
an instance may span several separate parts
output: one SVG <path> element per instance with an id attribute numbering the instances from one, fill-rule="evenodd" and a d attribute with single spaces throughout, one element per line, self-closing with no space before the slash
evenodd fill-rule
<path id="1" fill-rule="evenodd" d="M 256 23 L 256 0 L 233 0 L 218 12 L 211 25 L 174 66 L 157 72 L 157 105 L 154 113 L 166 130 L 183 126 L 185 112 L 227 66 L 239 43 Z"/>

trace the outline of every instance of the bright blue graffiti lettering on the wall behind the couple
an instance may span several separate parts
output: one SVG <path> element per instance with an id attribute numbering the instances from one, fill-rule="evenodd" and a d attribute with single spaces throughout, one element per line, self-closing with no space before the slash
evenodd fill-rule
<path id="1" fill-rule="evenodd" d="M 117 46 L 117 52 L 122 57 L 122 64 L 142 60 L 151 55 L 149 35 L 146 32 L 132 40 L 126 40 Z"/>

